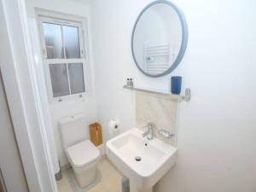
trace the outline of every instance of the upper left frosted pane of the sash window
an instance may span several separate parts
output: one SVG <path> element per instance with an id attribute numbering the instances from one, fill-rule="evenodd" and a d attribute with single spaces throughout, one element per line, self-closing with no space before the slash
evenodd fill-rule
<path id="1" fill-rule="evenodd" d="M 61 25 L 43 23 L 47 59 L 64 58 Z"/>

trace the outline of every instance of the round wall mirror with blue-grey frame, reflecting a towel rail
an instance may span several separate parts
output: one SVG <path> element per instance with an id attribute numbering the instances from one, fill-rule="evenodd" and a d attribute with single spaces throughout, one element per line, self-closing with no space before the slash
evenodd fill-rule
<path id="1" fill-rule="evenodd" d="M 131 50 L 137 67 L 150 77 L 171 73 L 182 60 L 188 43 L 186 20 L 168 1 L 148 4 L 132 32 Z"/>

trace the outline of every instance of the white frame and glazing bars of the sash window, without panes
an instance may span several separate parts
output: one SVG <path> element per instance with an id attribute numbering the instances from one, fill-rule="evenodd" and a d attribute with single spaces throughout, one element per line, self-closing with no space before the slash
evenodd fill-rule
<path id="1" fill-rule="evenodd" d="M 79 47 L 80 47 L 80 57 L 81 58 L 74 58 L 74 59 L 47 59 L 47 50 L 44 40 L 44 27 L 43 23 L 48 22 L 52 24 L 64 25 L 64 26 L 76 26 L 79 28 Z M 85 49 L 85 44 L 88 42 L 87 37 L 85 36 L 85 24 L 84 20 L 79 17 L 69 16 L 69 15 L 57 15 L 53 14 L 48 11 L 38 11 L 38 28 L 41 38 L 41 46 L 42 46 L 42 55 L 44 59 L 44 74 L 45 80 L 48 90 L 48 97 L 49 102 L 67 102 L 73 101 L 77 99 L 81 99 L 88 94 L 88 87 L 89 87 L 89 67 L 87 61 L 87 51 Z M 62 32 L 62 31 L 61 31 Z M 62 39 L 62 45 L 65 47 L 65 43 Z M 86 47 L 87 48 L 87 47 Z M 66 55 L 64 51 L 64 55 Z M 68 73 L 68 64 L 70 63 L 82 63 L 83 64 L 83 75 L 84 75 L 84 92 L 80 92 L 77 94 L 71 94 L 70 84 L 69 84 L 69 73 Z M 53 95 L 52 84 L 50 79 L 50 71 L 49 71 L 49 64 L 67 64 L 67 79 L 68 79 L 68 88 L 70 94 L 67 96 L 56 96 Z"/>

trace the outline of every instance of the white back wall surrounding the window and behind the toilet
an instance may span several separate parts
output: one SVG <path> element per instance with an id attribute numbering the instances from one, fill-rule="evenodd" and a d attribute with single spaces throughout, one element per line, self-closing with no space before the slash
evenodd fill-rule
<path id="1" fill-rule="evenodd" d="M 83 99 L 79 99 L 73 102 L 58 102 L 58 103 L 50 103 L 50 116 L 53 125 L 53 133 L 55 136 L 55 146 L 58 154 L 58 158 L 61 161 L 61 166 L 67 164 L 67 158 L 64 153 L 61 144 L 61 137 L 59 133 L 58 120 L 62 117 L 66 117 L 68 115 L 74 113 L 85 113 L 87 116 L 88 123 L 94 123 L 97 120 L 96 115 L 96 99 L 95 99 L 95 90 L 94 90 L 94 79 L 93 79 L 93 67 L 92 67 L 92 58 L 90 57 L 90 9 L 89 5 L 86 3 L 76 0 L 26 0 L 26 9 L 28 12 L 28 16 L 30 18 L 35 19 L 36 13 L 35 8 L 40 9 L 48 9 L 56 12 L 60 12 L 68 15 L 77 15 L 80 17 L 88 18 L 88 32 L 89 32 L 89 74 L 92 74 L 89 79 L 89 94 L 85 96 Z M 87 45 L 86 45 L 87 46 Z"/>

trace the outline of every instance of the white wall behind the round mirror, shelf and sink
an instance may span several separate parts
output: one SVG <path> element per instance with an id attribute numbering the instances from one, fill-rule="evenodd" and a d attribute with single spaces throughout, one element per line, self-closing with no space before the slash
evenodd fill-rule
<path id="1" fill-rule="evenodd" d="M 256 2 L 185 1 L 189 44 L 170 75 L 149 79 L 131 56 L 132 26 L 151 1 L 95 0 L 92 5 L 93 53 L 99 119 L 107 138 L 109 119 L 121 131 L 135 125 L 135 102 L 123 90 L 127 77 L 136 85 L 170 90 L 170 77 L 183 76 L 192 100 L 180 104 L 177 165 L 159 192 L 253 192 L 256 190 Z"/>

